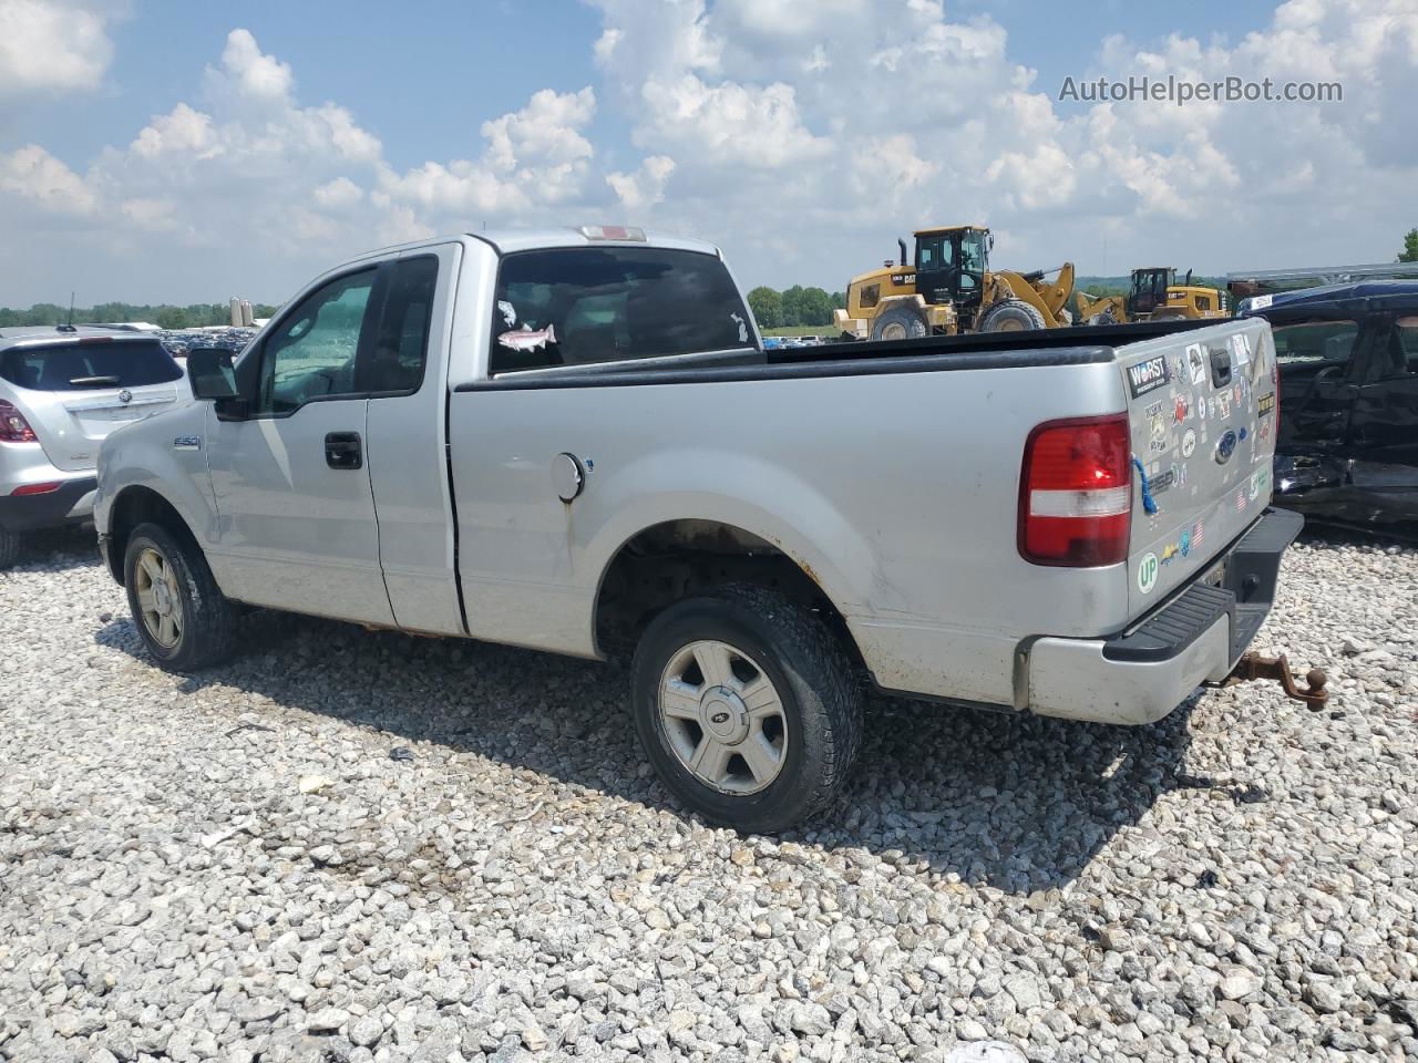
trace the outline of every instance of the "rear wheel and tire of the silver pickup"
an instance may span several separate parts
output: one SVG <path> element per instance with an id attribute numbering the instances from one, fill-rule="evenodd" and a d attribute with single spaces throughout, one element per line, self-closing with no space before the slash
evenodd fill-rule
<path id="1" fill-rule="evenodd" d="M 665 609 L 631 673 L 645 755 L 715 823 L 771 833 L 822 809 L 862 737 L 862 692 L 842 645 L 810 609 L 729 587 Z"/>

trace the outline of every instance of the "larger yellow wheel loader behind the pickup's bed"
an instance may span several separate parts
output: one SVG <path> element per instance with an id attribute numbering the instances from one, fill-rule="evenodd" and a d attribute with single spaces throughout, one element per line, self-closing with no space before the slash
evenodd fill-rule
<path id="1" fill-rule="evenodd" d="M 851 339 L 900 340 L 956 332 L 1017 332 L 1071 325 L 1073 264 L 1018 274 L 990 269 L 994 237 L 983 225 L 917 230 L 916 258 L 854 276 L 838 330 Z M 1058 276 L 1052 283 L 1044 278 Z"/>

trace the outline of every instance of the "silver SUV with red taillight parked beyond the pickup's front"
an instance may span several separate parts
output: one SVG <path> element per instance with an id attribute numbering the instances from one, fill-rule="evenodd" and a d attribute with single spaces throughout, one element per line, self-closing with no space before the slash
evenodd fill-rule
<path id="1" fill-rule="evenodd" d="M 190 401 L 182 367 L 152 334 L 0 329 L 0 568 L 26 537 L 92 519 L 104 437 Z"/>

